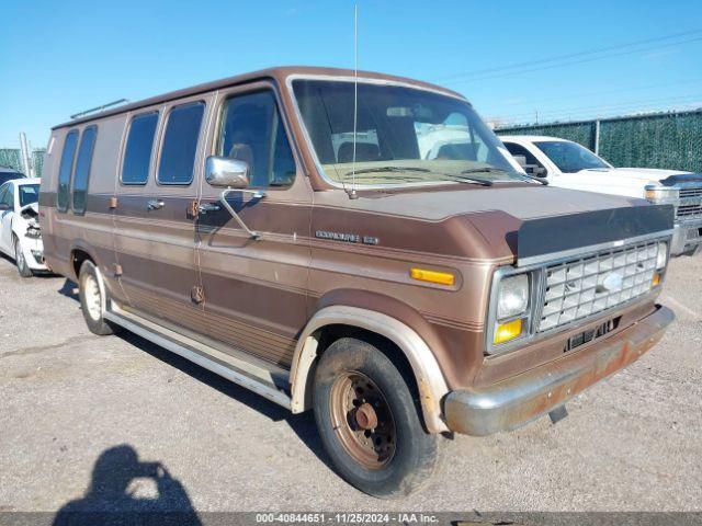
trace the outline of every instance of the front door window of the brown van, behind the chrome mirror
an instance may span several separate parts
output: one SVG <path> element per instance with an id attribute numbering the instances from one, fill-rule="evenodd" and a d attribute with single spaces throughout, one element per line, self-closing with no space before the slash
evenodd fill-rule
<path id="1" fill-rule="evenodd" d="M 295 159 L 271 91 L 228 99 L 223 108 L 217 155 L 246 161 L 251 186 L 290 186 Z"/>

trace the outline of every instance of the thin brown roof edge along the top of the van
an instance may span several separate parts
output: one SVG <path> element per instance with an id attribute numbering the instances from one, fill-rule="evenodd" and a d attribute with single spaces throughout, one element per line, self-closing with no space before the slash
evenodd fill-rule
<path id="1" fill-rule="evenodd" d="M 149 99 L 144 99 L 141 101 L 133 102 L 131 104 L 125 104 L 124 106 L 118 106 L 111 110 L 105 110 L 103 112 L 94 113 L 92 115 L 87 115 L 81 118 L 76 118 L 72 121 L 68 121 L 66 123 L 54 126 L 52 129 L 59 129 L 70 126 L 76 126 L 77 124 L 87 123 L 91 121 L 97 121 L 100 118 L 109 117 L 111 115 L 118 115 L 121 113 L 132 112 L 134 110 L 138 110 L 141 107 L 150 106 L 154 104 L 160 104 L 163 102 L 172 101 L 174 99 L 182 99 L 190 95 L 196 95 L 197 93 L 206 93 L 208 91 L 217 90 L 220 88 L 226 88 L 234 84 L 239 84 L 244 82 L 251 82 L 259 79 L 274 79 L 279 82 L 284 82 L 284 80 L 290 76 L 295 75 L 309 75 L 309 76 L 329 76 L 329 77 L 353 77 L 354 71 L 352 69 L 339 69 L 339 68 L 320 68 L 320 67 L 309 67 L 309 66 L 284 66 L 284 67 L 275 67 L 261 69 L 258 71 L 252 71 L 248 73 L 237 75 L 235 77 L 228 77 L 226 79 L 215 80 L 212 82 L 206 82 L 204 84 L 193 85 L 191 88 L 184 88 L 182 90 L 171 91 L 169 93 L 165 93 L 162 95 L 151 96 Z M 359 71 L 359 78 L 365 79 L 380 79 L 380 80 L 389 80 L 395 82 L 403 82 L 416 85 L 418 88 L 430 89 L 434 91 L 440 91 L 448 95 L 458 96 L 464 99 L 461 93 L 457 93 L 452 90 L 448 90 L 440 85 L 431 84 L 429 82 L 422 82 L 419 80 L 408 79 L 405 77 L 395 77 L 384 73 L 377 73 L 373 71 Z"/>

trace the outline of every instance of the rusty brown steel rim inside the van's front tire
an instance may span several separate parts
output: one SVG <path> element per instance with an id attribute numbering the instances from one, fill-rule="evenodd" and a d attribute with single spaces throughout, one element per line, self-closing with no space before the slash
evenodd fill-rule
<path id="1" fill-rule="evenodd" d="M 331 386 L 331 422 L 347 453 L 366 469 L 380 469 L 395 456 L 393 412 L 373 380 L 350 371 Z"/>

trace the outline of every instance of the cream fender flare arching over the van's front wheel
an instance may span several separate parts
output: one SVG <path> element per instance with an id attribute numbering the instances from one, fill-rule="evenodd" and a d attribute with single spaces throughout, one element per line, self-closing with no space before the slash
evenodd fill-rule
<path id="1" fill-rule="evenodd" d="M 377 312 L 349 306 L 325 307 L 317 311 L 303 330 L 291 368 L 291 408 L 293 413 L 309 409 L 310 370 L 317 359 L 317 333 L 328 325 L 350 325 L 374 332 L 394 342 L 409 362 L 421 402 L 424 425 L 430 433 L 448 432 L 442 419 L 441 401 L 449 393 L 443 373 L 427 343 L 407 324 Z"/>

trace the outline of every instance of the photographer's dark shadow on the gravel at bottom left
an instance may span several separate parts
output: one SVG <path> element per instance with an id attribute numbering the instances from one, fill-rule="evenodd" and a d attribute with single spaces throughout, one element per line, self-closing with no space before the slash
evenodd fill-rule
<path id="1" fill-rule="evenodd" d="M 100 454 L 83 496 L 66 503 L 53 524 L 199 526 L 202 523 L 183 484 L 161 462 L 140 461 L 134 447 L 122 444 Z"/>

